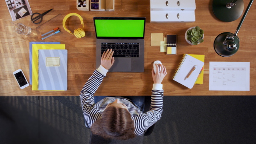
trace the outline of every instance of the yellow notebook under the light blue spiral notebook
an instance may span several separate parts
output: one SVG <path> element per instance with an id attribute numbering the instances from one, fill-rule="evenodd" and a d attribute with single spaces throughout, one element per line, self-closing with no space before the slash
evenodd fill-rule
<path id="1" fill-rule="evenodd" d="M 38 90 L 38 50 L 65 49 L 64 44 L 32 44 L 32 90 Z"/>

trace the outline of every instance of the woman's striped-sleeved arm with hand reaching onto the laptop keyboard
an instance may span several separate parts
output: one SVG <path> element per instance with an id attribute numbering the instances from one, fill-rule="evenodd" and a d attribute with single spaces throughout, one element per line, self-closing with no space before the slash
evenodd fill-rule
<path id="1" fill-rule="evenodd" d="M 105 78 L 108 69 L 113 65 L 113 51 L 107 50 L 104 52 L 101 59 L 101 65 L 98 69 L 95 69 L 93 75 L 88 79 L 88 81 L 84 84 L 80 92 L 81 106 L 84 114 L 84 118 L 88 122 L 91 123 L 90 112 L 94 106 L 94 98 L 93 95 L 96 90 L 99 88 L 99 85 L 102 83 L 103 78 Z"/>

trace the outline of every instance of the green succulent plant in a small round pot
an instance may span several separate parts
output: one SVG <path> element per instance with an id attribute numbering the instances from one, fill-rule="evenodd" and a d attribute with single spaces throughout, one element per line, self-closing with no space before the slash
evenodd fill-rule
<path id="1" fill-rule="evenodd" d="M 200 29 L 199 26 L 196 26 L 193 29 L 189 29 L 187 32 L 187 40 L 191 41 L 193 45 L 197 45 L 198 43 L 203 43 L 204 39 L 203 38 L 204 30 Z"/>

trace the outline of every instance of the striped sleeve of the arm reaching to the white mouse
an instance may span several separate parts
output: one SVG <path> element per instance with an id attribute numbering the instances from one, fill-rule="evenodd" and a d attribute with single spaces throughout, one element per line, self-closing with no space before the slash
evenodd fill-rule
<path id="1" fill-rule="evenodd" d="M 156 123 L 163 112 L 163 90 L 152 90 L 151 105 L 148 112 L 138 115 L 134 118 L 136 135 L 143 135 L 144 130 Z"/>

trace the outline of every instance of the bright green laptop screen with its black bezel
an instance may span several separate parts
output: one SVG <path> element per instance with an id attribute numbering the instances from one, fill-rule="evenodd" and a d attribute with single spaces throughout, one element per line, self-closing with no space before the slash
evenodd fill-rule
<path id="1" fill-rule="evenodd" d="M 144 38 L 145 18 L 94 17 L 97 38 Z"/>

